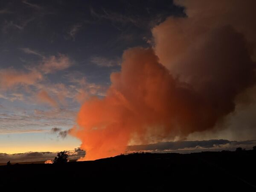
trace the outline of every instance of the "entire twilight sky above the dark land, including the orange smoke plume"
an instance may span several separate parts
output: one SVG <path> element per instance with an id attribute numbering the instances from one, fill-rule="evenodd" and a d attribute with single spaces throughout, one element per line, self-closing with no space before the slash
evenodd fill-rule
<path id="1" fill-rule="evenodd" d="M 1 0 L 0 160 L 251 147 L 255 2 L 208 3 Z"/>

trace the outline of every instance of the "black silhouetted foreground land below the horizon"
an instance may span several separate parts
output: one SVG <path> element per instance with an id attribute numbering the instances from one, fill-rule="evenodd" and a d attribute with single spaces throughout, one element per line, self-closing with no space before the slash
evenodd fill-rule
<path id="1" fill-rule="evenodd" d="M 0 189 L 256 191 L 256 152 L 130 154 L 95 161 L 0 166 Z"/>

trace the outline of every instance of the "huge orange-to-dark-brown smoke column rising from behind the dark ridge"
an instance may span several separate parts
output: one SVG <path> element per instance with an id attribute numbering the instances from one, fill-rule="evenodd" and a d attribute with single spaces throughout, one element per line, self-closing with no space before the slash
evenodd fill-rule
<path id="1" fill-rule="evenodd" d="M 126 50 L 106 96 L 81 106 L 70 133 L 82 142 L 82 160 L 120 154 L 131 141 L 183 140 L 211 129 L 255 84 L 253 23 L 241 28 L 252 13 L 236 1 L 220 10 L 230 1 L 192 2 L 178 2 L 188 17 L 169 17 L 152 29 L 153 47 Z M 244 15 L 232 20 L 239 9 Z"/>

